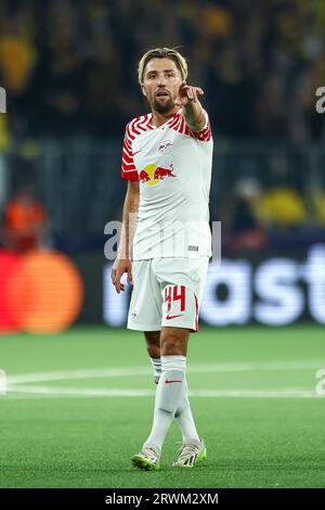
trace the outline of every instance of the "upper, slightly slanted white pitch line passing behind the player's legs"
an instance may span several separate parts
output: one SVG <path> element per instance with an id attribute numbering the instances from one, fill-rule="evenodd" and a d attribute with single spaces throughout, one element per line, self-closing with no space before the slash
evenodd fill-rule
<path id="1" fill-rule="evenodd" d="M 325 367 L 325 359 L 309 361 L 270 361 L 270 362 L 233 362 L 233 364 L 188 364 L 188 373 L 213 373 L 213 372 L 251 372 L 251 371 L 277 371 L 277 370 L 310 370 Z M 128 378 L 136 375 L 148 375 L 150 366 L 130 368 L 103 368 L 66 370 L 57 372 L 36 372 L 16 375 L 8 375 L 8 384 L 22 384 L 44 381 L 69 381 L 77 379 L 102 379 L 102 378 Z"/>

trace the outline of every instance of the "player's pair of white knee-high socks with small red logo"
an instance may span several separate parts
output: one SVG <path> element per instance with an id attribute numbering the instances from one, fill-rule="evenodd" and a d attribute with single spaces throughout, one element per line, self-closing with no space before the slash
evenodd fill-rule
<path id="1" fill-rule="evenodd" d="M 199 441 L 187 396 L 185 356 L 161 356 L 151 360 L 155 383 L 158 385 L 153 429 L 144 446 L 155 445 L 161 450 L 173 418 L 182 431 L 183 443 L 191 439 Z"/>

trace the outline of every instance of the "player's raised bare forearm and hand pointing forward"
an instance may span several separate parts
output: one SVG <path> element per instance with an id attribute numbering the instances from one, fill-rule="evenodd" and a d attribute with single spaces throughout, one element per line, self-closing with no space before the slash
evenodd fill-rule
<path id="1" fill-rule="evenodd" d="M 183 107 L 183 115 L 191 131 L 200 131 L 206 125 L 206 116 L 198 97 L 204 91 L 200 87 L 193 87 L 182 81 L 177 104 Z"/>

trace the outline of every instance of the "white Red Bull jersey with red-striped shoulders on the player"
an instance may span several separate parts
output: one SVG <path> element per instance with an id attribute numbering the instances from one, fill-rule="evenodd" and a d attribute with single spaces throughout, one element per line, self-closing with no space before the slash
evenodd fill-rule
<path id="1" fill-rule="evenodd" d="M 140 182 L 134 260 L 211 255 L 209 190 L 213 141 L 206 115 L 191 131 L 180 109 L 160 127 L 153 114 L 127 126 L 121 176 Z"/>

